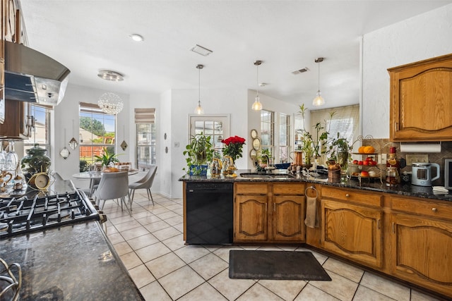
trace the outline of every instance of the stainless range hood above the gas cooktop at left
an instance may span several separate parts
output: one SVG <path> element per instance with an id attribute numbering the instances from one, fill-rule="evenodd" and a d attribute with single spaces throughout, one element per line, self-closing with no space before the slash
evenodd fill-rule
<path id="1" fill-rule="evenodd" d="M 56 106 L 66 91 L 71 71 L 49 56 L 5 42 L 5 99 Z"/>

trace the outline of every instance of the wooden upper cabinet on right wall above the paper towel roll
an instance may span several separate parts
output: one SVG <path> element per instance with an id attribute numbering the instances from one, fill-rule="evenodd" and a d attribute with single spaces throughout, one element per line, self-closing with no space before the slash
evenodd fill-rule
<path id="1" fill-rule="evenodd" d="M 391 141 L 452 141 L 452 54 L 388 69 Z"/>

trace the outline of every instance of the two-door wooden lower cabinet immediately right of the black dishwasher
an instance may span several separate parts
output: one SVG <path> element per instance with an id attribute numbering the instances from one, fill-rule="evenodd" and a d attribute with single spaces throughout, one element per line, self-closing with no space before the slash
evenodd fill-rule
<path id="1" fill-rule="evenodd" d="M 234 242 L 304 242 L 304 185 L 236 185 Z"/>

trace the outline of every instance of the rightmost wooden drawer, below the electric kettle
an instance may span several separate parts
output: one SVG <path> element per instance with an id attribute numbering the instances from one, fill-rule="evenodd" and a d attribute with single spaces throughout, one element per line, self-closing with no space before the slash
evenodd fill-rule
<path id="1" fill-rule="evenodd" d="M 440 219 L 452 219 L 452 203 L 449 205 L 416 198 L 391 197 L 391 209 Z"/>

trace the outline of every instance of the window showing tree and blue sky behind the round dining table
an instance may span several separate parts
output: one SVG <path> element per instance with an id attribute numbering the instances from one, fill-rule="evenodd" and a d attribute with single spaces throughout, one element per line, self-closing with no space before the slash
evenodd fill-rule
<path id="1" fill-rule="evenodd" d="M 116 116 L 104 113 L 97 104 L 80 103 L 80 160 L 93 164 L 102 149 L 115 153 Z"/>

